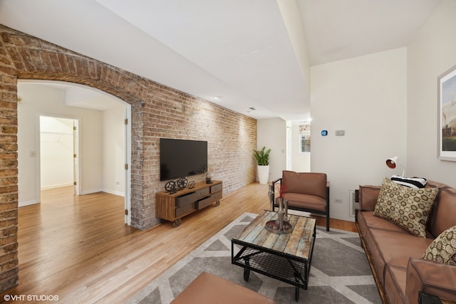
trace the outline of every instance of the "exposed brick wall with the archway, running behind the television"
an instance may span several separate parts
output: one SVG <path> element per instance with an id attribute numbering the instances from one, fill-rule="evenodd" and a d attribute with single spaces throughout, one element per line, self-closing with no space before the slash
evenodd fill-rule
<path id="1" fill-rule="evenodd" d="M 160 137 L 207 140 L 209 171 L 223 181 L 224 194 L 255 181 L 257 120 L 0 25 L 0 290 L 16 285 L 18 278 L 18 79 L 79 83 L 130 103 L 135 228 L 159 223 L 155 193 L 165 185 L 160 182 Z"/>

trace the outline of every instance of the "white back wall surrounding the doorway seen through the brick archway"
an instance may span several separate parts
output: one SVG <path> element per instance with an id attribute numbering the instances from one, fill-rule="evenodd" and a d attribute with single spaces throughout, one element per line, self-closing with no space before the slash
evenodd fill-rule
<path id="1" fill-rule="evenodd" d="M 103 190 L 102 112 L 69 107 L 64 104 L 63 90 L 44 85 L 18 83 L 18 93 L 22 98 L 18 105 L 19 205 L 34 204 L 40 200 L 38 189 L 40 185 L 36 179 L 39 171 L 38 114 L 79 119 L 81 194 Z M 123 124 L 123 120 L 121 123 Z M 36 152 L 36 157 L 30 156 L 30 152 L 33 151 Z"/>

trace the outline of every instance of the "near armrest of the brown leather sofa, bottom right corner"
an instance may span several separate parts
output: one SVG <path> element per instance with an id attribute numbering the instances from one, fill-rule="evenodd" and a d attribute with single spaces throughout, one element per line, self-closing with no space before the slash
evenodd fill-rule
<path id="1" fill-rule="evenodd" d="M 418 292 L 423 291 L 443 300 L 456 302 L 456 266 L 423 258 L 409 258 L 405 302 L 417 303 Z"/>

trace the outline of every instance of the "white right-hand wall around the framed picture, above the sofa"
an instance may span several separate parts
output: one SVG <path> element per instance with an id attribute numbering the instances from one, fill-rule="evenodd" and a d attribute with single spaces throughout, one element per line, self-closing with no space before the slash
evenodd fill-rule
<path id="1" fill-rule="evenodd" d="M 408 46 L 408 174 L 456 187 L 456 162 L 437 159 L 437 77 L 456 65 L 456 1 L 443 0 Z"/>

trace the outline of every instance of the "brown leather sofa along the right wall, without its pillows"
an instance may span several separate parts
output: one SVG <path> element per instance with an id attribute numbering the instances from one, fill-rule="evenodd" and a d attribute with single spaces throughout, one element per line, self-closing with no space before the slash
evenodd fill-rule
<path id="1" fill-rule="evenodd" d="M 456 266 L 423 259 L 432 241 L 456 226 L 456 189 L 432 181 L 426 187 L 439 189 L 425 238 L 373 216 L 380 186 L 359 187 L 356 224 L 383 303 L 425 303 L 423 295 L 456 302 Z"/>

